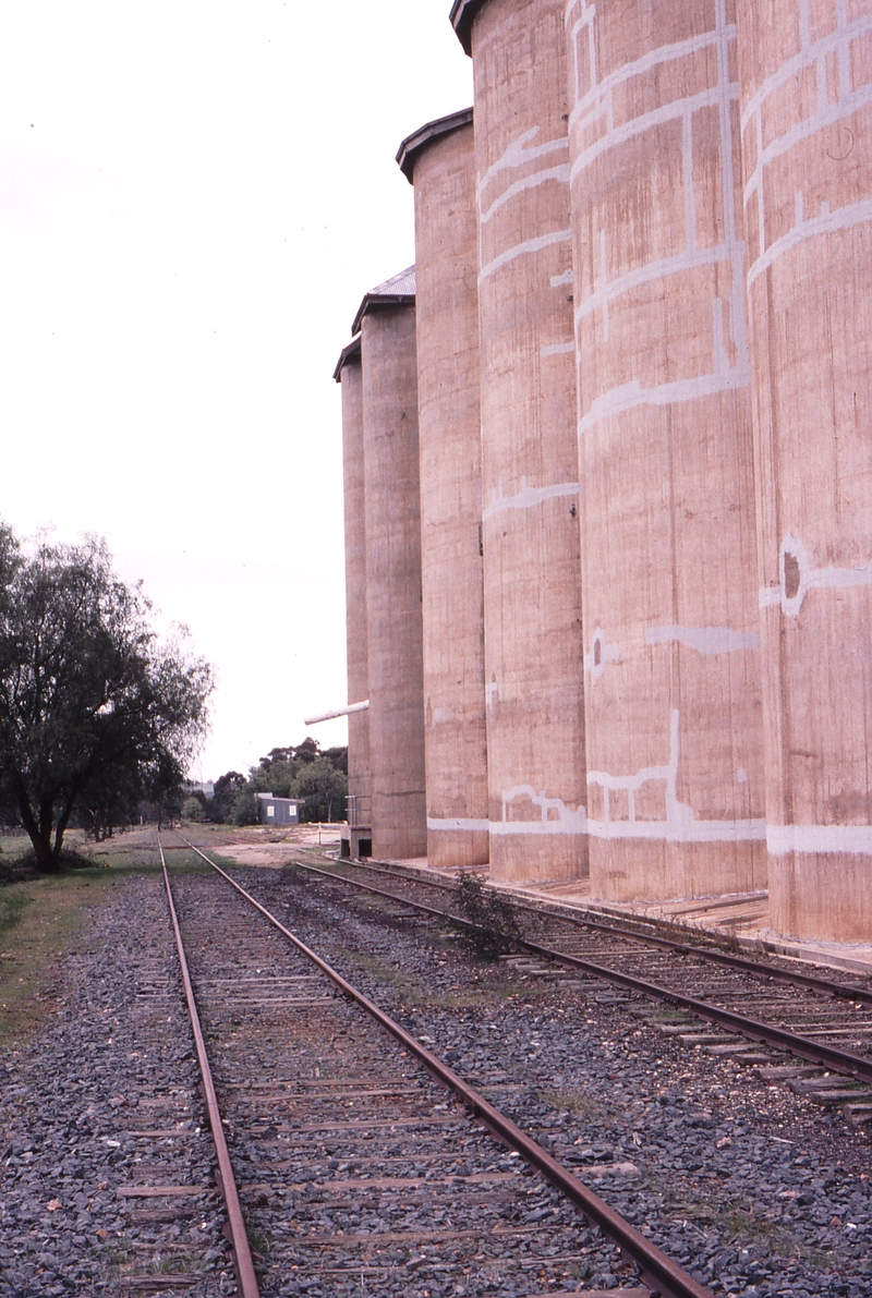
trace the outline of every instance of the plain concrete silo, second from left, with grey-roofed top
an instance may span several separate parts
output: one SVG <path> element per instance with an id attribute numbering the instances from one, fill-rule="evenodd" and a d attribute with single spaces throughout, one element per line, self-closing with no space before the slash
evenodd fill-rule
<path id="1" fill-rule="evenodd" d="M 361 323 L 372 854 L 427 851 L 414 306 Z"/>

